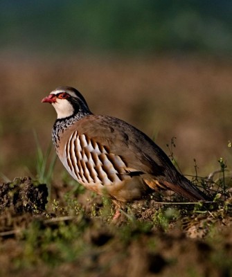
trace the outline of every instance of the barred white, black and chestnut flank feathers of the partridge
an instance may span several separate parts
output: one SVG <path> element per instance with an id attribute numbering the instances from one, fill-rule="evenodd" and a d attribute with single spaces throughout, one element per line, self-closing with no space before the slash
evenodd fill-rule
<path id="1" fill-rule="evenodd" d="M 107 146 L 75 131 L 64 144 L 62 163 L 69 173 L 84 186 L 111 186 L 127 176 L 123 159 L 109 151 Z"/>

